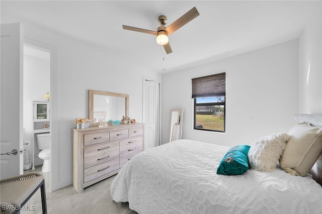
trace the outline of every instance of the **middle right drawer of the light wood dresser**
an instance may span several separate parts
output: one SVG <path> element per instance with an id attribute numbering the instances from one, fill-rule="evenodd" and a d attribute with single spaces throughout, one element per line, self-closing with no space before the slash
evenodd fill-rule
<path id="1" fill-rule="evenodd" d="M 120 157 L 143 150 L 143 136 L 120 141 Z"/>

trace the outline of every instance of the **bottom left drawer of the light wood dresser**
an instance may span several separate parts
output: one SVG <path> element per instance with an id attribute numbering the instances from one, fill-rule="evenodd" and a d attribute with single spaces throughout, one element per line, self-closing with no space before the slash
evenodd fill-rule
<path id="1" fill-rule="evenodd" d="M 120 168 L 120 160 L 113 159 L 96 166 L 84 169 L 84 183 Z"/>

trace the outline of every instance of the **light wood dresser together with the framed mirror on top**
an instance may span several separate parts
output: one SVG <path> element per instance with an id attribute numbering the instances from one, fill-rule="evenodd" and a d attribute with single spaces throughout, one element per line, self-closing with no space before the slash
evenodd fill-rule
<path id="1" fill-rule="evenodd" d="M 136 154 L 144 150 L 144 124 L 104 123 L 129 116 L 129 95 L 89 90 L 91 127 L 72 129 L 73 176 L 78 193 L 117 174 Z"/>

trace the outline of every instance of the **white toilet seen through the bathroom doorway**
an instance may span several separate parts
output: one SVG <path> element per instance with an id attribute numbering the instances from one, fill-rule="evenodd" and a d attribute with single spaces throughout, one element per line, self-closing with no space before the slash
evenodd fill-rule
<path id="1" fill-rule="evenodd" d="M 41 171 L 49 172 L 50 171 L 50 148 L 49 148 L 50 135 L 49 133 L 37 134 L 36 139 L 37 139 L 38 149 L 41 150 L 41 152 L 39 152 L 38 154 L 38 157 L 44 160 Z"/>

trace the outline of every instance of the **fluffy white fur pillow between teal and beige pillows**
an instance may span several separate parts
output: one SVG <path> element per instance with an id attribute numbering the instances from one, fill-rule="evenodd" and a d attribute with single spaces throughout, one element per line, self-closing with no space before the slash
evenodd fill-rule
<path id="1" fill-rule="evenodd" d="M 274 172 L 289 139 L 288 134 L 278 133 L 254 141 L 248 152 L 250 168 L 258 171 Z"/>

